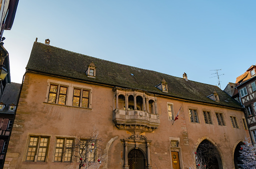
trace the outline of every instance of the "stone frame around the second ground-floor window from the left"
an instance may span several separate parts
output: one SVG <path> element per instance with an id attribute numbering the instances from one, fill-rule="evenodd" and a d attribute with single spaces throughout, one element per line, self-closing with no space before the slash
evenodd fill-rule
<path id="1" fill-rule="evenodd" d="M 57 147 L 57 140 L 58 139 L 64 139 L 64 143 L 63 143 L 63 147 Z M 72 143 L 72 147 L 71 148 L 68 148 L 68 149 L 71 149 L 71 159 L 70 160 L 65 160 L 65 155 L 67 153 L 66 149 L 67 149 L 67 140 L 73 140 L 73 143 Z M 55 143 L 54 143 L 54 153 L 53 153 L 53 162 L 74 162 L 74 144 L 75 144 L 75 137 L 62 137 L 62 136 L 56 136 L 55 137 Z M 55 160 L 55 157 L 56 157 L 56 149 L 62 149 L 62 152 L 61 152 L 61 160 Z"/>

